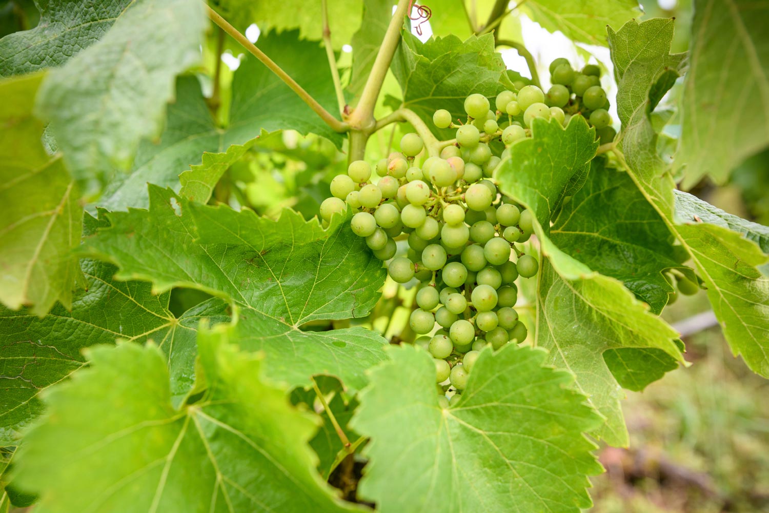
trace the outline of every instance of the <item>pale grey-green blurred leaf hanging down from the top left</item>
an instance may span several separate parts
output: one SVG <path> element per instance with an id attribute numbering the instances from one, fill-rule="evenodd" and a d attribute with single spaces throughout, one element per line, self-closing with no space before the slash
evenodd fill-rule
<path id="1" fill-rule="evenodd" d="M 197 0 L 136 0 L 98 42 L 51 70 L 38 112 L 77 178 L 128 169 L 141 138 L 159 135 L 175 76 L 200 61 L 207 24 Z"/>

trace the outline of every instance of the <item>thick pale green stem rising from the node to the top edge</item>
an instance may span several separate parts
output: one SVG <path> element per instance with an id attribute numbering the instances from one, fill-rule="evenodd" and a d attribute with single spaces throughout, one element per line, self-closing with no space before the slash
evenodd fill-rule
<path id="1" fill-rule="evenodd" d="M 371 67 L 371 73 L 368 75 L 366 84 L 363 86 L 361 99 L 358 105 L 355 105 L 355 110 L 348 119 L 350 126 L 353 128 L 368 129 L 375 124 L 374 108 L 382 83 L 384 82 L 384 76 L 387 75 L 387 71 L 390 68 L 392 56 L 401 42 L 401 26 L 403 25 L 403 18 L 408 11 L 408 5 L 409 0 L 399 0 L 398 7 L 395 8 L 395 13 L 390 19 L 390 25 L 388 25 L 387 32 L 384 33 L 384 39 L 382 39 L 374 65 Z"/>

